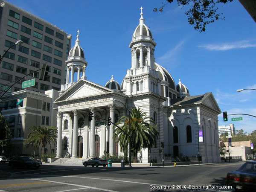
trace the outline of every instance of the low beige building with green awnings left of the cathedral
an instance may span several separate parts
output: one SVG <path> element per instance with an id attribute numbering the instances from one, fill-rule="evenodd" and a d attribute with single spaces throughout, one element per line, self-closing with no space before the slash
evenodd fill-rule
<path id="1" fill-rule="evenodd" d="M 23 146 L 29 133 L 29 128 L 33 126 L 56 126 L 56 111 L 52 101 L 58 97 L 58 91 L 48 90 L 45 94 L 31 90 L 20 90 L 8 93 L 2 98 L 4 103 L 1 109 L 2 115 L 6 117 L 12 132 L 12 147 L 10 150 L 1 151 L 4 154 L 41 154 L 41 148 L 28 148 Z M 47 153 L 55 153 L 55 146 L 47 146 Z"/>

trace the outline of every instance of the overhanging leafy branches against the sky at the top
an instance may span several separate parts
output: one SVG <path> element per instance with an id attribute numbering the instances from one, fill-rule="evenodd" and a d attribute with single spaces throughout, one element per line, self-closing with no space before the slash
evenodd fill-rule
<path id="1" fill-rule="evenodd" d="M 153 11 L 163 12 L 163 8 L 167 4 L 172 3 L 174 0 L 166 1 L 166 3 L 162 3 L 160 8 L 154 8 Z M 195 30 L 204 32 L 207 24 L 213 23 L 218 19 L 225 19 L 225 17 L 221 17 L 221 15 L 223 15 L 222 13 L 218 13 L 218 7 L 216 7 L 216 4 L 226 4 L 232 1 L 233 0 L 177 0 L 177 4 L 182 8 L 184 6 L 189 7 L 188 11 L 186 12 L 189 24 L 193 25 Z"/>

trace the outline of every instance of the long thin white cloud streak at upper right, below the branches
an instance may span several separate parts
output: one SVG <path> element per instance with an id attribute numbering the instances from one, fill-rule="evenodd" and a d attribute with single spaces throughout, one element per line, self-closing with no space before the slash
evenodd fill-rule
<path id="1" fill-rule="evenodd" d="M 247 41 L 238 41 L 232 43 L 222 43 L 222 44 L 208 44 L 208 45 L 200 45 L 198 47 L 205 48 L 210 51 L 227 51 L 230 49 L 245 49 L 250 47 L 256 47 L 255 40 L 247 40 Z"/>

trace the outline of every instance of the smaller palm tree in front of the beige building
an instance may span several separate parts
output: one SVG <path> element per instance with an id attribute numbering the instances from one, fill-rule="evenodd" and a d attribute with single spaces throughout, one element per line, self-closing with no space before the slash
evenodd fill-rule
<path id="1" fill-rule="evenodd" d="M 28 134 L 28 138 L 24 145 L 35 145 L 39 147 L 41 145 L 42 154 L 44 155 L 44 149 L 47 144 L 51 146 L 51 142 L 56 143 L 57 140 L 57 128 L 56 127 L 31 127 L 31 132 Z"/>

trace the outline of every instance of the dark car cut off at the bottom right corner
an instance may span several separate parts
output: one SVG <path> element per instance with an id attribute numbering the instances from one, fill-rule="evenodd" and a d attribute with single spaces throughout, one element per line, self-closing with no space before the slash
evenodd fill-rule
<path id="1" fill-rule="evenodd" d="M 256 161 L 244 163 L 239 169 L 227 173 L 227 186 L 232 186 L 236 191 L 256 188 Z"/>

